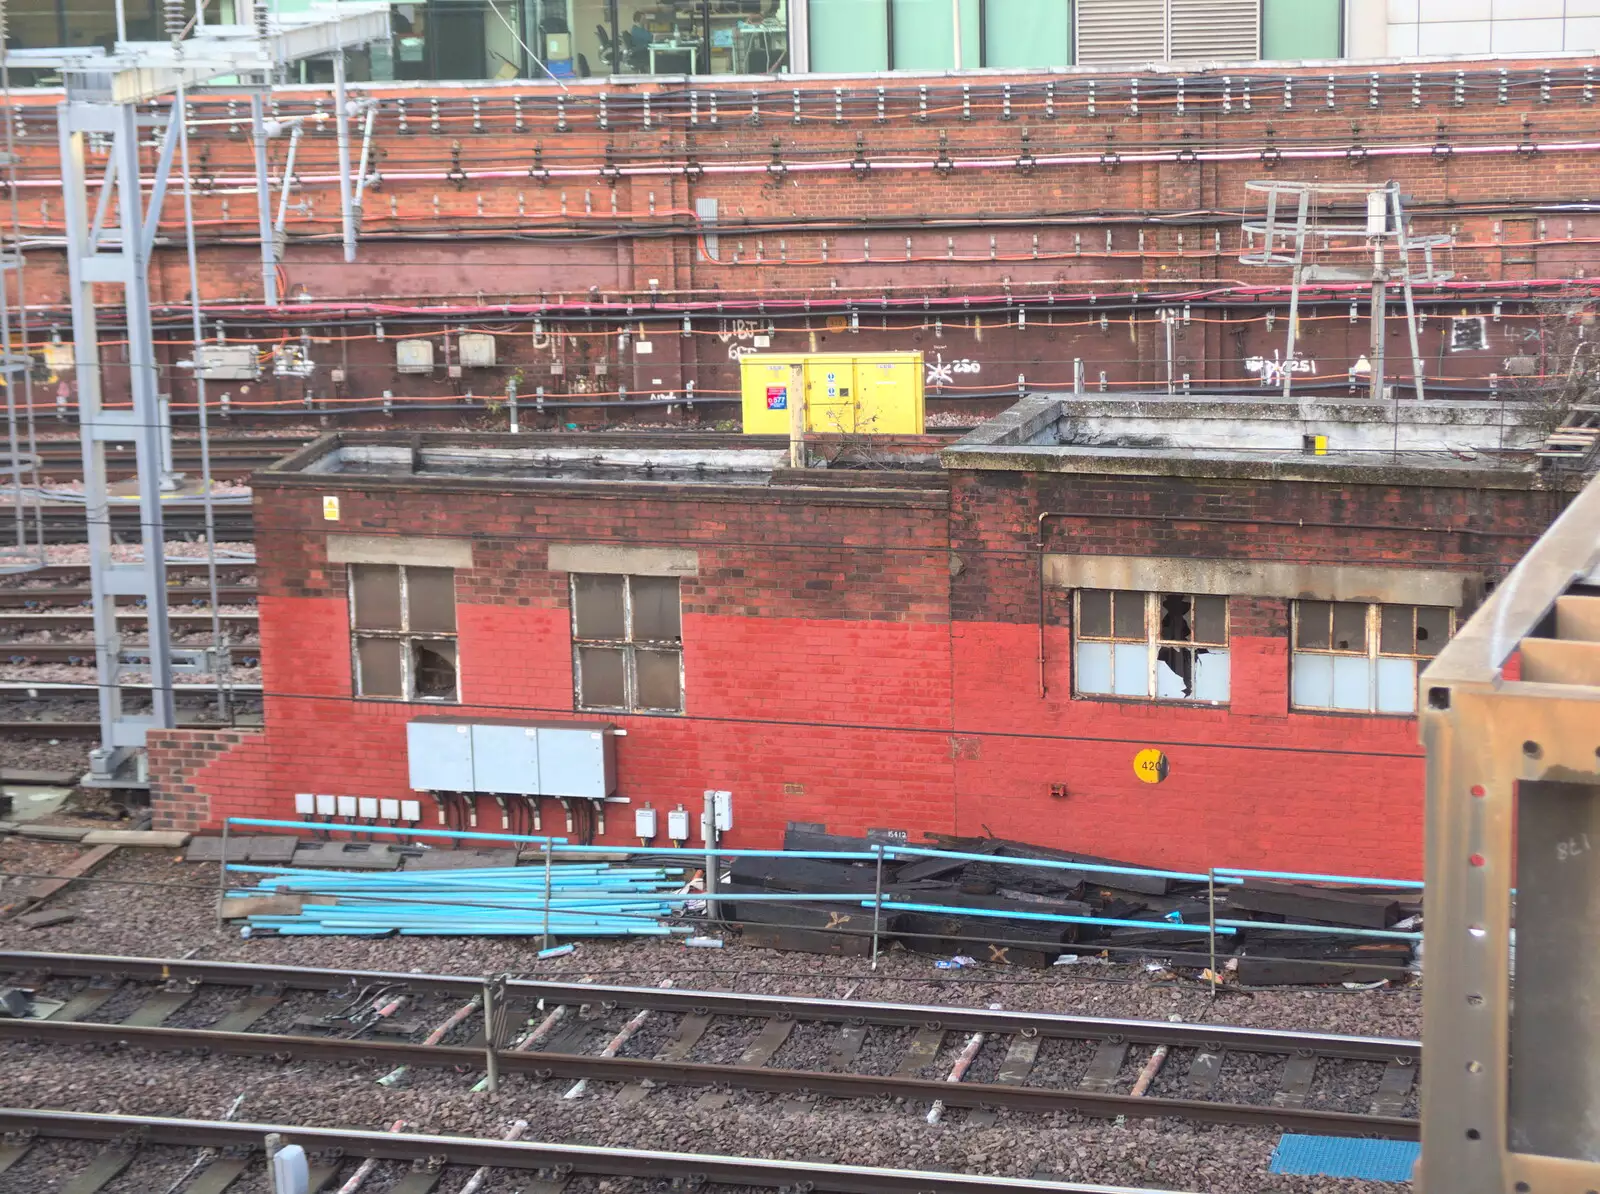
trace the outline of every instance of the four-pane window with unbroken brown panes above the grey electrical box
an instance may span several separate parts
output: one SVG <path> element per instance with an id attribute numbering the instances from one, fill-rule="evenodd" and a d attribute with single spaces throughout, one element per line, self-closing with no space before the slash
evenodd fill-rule
<path id="1" fill-rule="evenodd" d="M 578 707 L 683 712 L 683 619 L 677 576 L 574 573 L 571 586 Z"/>

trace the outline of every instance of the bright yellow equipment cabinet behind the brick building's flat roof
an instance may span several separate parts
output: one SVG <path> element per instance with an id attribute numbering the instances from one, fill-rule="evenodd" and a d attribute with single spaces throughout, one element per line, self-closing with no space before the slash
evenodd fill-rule
<path id="1" fill-rule="evenodd" d="M 806 431 L 922 435 L 920 352 L 757 352 L 739 360 L 746 435 L 787 435 L 795 383 Z"/>

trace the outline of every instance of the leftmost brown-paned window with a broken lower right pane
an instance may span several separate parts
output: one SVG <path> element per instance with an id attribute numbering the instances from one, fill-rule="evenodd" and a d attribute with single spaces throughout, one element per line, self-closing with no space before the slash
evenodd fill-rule
<path id="1" fill-rule="evenodd" d="M 461 701 L 456 571 L 352 563 L 350 671 L 378 701 Z"/>

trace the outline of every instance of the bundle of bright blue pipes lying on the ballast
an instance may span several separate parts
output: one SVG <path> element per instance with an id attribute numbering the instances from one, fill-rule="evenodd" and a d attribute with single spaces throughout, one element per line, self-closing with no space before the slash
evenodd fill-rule
<path id="1" fill-rule="evenodd" d="M 285 936 L 667 936 L 680 871 L 611 863 L 462 871 L 304 871 L 230 864 L 267 875 L 229 896 L 299 895 L 296 914 L 248 917 L 248 933 Z M 549 895 L 547 895 L 549 893 Z"/>

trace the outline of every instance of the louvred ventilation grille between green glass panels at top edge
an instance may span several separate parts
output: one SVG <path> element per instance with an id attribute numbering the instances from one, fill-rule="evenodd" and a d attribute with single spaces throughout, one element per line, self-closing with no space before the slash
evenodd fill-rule
<path id="1" fill-rule="evenodd" d="M 1261 0 L 1078 0 L 1083 66 L 1261 58 Z"/>

